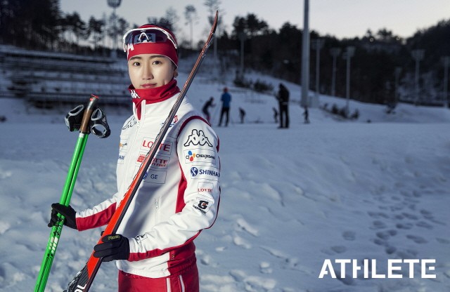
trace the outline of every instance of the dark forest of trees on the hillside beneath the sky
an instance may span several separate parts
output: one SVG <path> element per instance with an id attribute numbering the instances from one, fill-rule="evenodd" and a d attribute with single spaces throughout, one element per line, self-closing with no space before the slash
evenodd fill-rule
<path id="1" fill-rule="evenodd" d="M 215 11 L 220 9 L 220 1 L 206 0 L 205 6 Z M 194 6 L 186 5 L 183 11 L 186 23 L 195 19 L 195 13 Z M 180 17 L 174 8 L 169 8 L 161 18 L 148 20 L 176 32 L 177 18 Z M 76 12 L 65 14 L 60 11 L 59 0 L 0 1 L 0 44 L 105 55 L 111 50 L 111 40 L 120 39 L 134 26 L 114 13 L 103 19 L 91 16 L 89 20 L 82 20 Z M 354 53 L 349 59 L 352 99 L 381 104 L 404 100 L 439 105 L 446 99 L 444 77 L 448 81 L 448 74 L 444 71 L 448 69 L 450 58 L 450 18 L 418 30 L 406 39 L 385 28 L 378 32 L 368 30 L 361 38 L 354 39 L 337 39 L 312 30 L 310 40 L 309 88 L 312 91 L 345 97 L 347 53 L 353 48 Z M 197 49 L 188 38 L 179 45 L 182 55 Z M 248 70 L 301 83 L 302 29 L 289 22 L 274 29 L 254 13 L 236 16 L 231 31 L 219 29 L 217 52 L 222 73 L 231 67 L 240 68 L 241 46 L 245 71 L 236 73 L 236 85 L 256 87 L 255 81 L 245 79 Z M 316 64 L 318 55 L 320 62 Z M 320 83 L 316 88 L 318 69 Z M 257 90 L 270 87 L 258 85 Z"/>

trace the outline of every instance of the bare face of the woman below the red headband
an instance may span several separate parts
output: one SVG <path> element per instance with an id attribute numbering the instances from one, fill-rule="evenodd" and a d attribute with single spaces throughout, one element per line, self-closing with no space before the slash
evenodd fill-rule
<path id="1" fill-rule="evenodd" d="M 141 54 L 128 60 L 128 74 L 134 88 L 145 89 L 168 84 L 178 72 L 164 55 Z"/>

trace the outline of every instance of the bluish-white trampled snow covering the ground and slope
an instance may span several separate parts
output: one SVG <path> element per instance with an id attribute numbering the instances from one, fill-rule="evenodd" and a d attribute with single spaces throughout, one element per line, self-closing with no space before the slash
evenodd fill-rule
<path id="1" fill-rule="evenodd" d="M 450 111 L 400 104 L 350 102 L 357 121 L 340 121 L 311 108 L 303 124 L 300 86 L 291 94 L 289 129 L 277 129 L 276 100 L 196 77 L 188 96 L 201 108 L 211 95 L 220 138 L 219 217 L 195 240 L 201 291 L 450 291 Z M 183 84 L 187 74 L 181 74 Z M 274 87 L 279 80 L 265 78 Z M 233 96 L 232 122 L 217 127 L 224 85 Z M 86 97 L 87 98 L 87 97 Z M 340 107 L 326 95 L 320 103 Z M 101 105 L 101 104 L 100 104 Z M 239 123 L 238 107 L 246 112 Z M 63 117 L 70 108 L 26 109 L 23 100 L 0 98 L 0 291 L 32 291 L 49 237 L 50 205 L 59 201 L 77 133 Z M 94 206 L 115 191 L 118 134 L 129 113 L 104 109 L 107 139 L 90 136 L 71 205 Z M 367 121 L 371 122 L 368 123 Z M 101 230 L 65 227 L 46 291 L 62 291 L 89 258 Z M 435 279 L 352 277 L 319 279 L 330 259 L 435 259 Z M 340 276 L 341 266 L 333 265 Z M 115 291 L 117 270 L 103 263 L 91 291 Z"/>

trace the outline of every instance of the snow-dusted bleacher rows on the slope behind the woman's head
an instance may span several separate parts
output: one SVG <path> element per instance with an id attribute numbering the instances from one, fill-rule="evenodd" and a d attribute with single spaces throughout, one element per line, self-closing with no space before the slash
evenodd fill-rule
<path id="1" fill-rule="evenodd" d="M 103 104 L 129 106 L 129 84 L 125 60 L 0 46 L 0 97 L 48 107 L 95 94 Z"/>

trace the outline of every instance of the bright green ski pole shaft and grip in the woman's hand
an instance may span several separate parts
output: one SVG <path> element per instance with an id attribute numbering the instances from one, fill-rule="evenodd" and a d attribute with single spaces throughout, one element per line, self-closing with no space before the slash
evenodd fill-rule
<path id="1" fill-rule="evenodd" d="M 91 120 L 92 112 L 96 109 L 97 102 L 98 97 L 96 95 L 91 95 L 91 98 L 86 106 L 86 110 L 84 110 L 81 126 L 79 127 L 77 144 L 75 145 L 72 161 L 65 180 L 63 193 L 60 198 L 60 204 L 65 206 L 69 206 L 70 197 L 72 197 L 73 188 L 75 187 L 75 180 L 77 180 L 79 166 L 82 162 L 84 148 L 86 147 L 86 142 L 89 135 L 89 121 Z M 36 286 L 34 286 L 34 292 L 44 292 L 47 279 L 49 279 L 53 258 L 55 257 L 61 232 L 63 231 L 64 216 L 58 214 L 58 218 L 59 219 L 56 224 L 51 228 L 49 241 L 47 242 L 44 258 L 41 263 L 41 270 L 39 270 Z"/>

